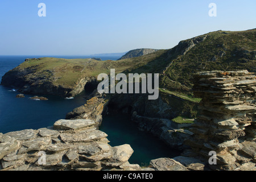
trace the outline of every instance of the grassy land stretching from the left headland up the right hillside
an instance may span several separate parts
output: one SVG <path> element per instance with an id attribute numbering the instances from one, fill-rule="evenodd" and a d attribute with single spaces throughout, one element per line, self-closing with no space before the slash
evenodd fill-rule
<path id="1" fill-rule="evenodd" d="M 256 30 L 216 31 L 183 40 L 176 47 L 148 55 L 117 61 L 93 59 L 60 59 L 42 57 L 27 59 L 6 73 L 3 85 L 25 92 L 42 85 L 67 89 L 67 93 L 85 77 L 100 73 L 160 73 L 162 92 L 189 93 L 191 78 L 198 71 L 247 69 L 256 72 Z M 54 93 L 54 89 L 47 94 Z"/>

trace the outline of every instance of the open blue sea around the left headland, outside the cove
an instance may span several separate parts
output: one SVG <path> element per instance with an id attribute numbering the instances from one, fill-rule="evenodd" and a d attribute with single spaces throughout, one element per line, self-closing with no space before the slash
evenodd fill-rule
<path id="1" fill-rule="evenodd" d="M 0 56 L 0 81 L 10 69 L 17 67 L 27 58 L 34 57 L 61 57 L 65 59 L 90 58 L 90 56 Z M 116 60 L 119 57 L 99 57 L 102 60 Z M 0 133 L 23 129 L 39 129 L 52 126 L 58 119 L 84 105 L 85 93 L 81 93 L 73 100 L 64 97 L 46 96 L 48 101 L 30 100 L 34 95 L 25 95 L 25 98 L 16 98 L 18 92 L 11 92 L 11 88 L 0 85 Z M 38 95 L 40 96 L 40 95 Z"/>

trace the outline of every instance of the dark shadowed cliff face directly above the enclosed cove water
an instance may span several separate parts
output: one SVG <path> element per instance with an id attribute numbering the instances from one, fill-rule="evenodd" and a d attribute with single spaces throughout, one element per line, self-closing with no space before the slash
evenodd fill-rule
<path id="1" fill-rule="evenodd" d="M 196 104 L 165 93 L 160 93 L 158 100 L 148 100 L 146 94 L 115 94 L 110 98 L 107 109 L 113 114 L 131 115 L 131 121 L 138 123 L 140 130 L 155 135 L 170 147 L 184 150 L 187 148 L 184 139 L 192 133 L 176 127 L 172 119 L 180 113 L 187 113 L 190 117 L 190 107 L 196 107 Z"/>

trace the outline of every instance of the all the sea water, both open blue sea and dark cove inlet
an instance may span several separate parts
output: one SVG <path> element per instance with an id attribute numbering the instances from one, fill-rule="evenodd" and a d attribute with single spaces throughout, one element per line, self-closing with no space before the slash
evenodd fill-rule
<path id="1" fill-rule="evenodd" d="M 59 57 L 64 59 L 83 59 L 92 56 L 0 56 L 0 81 L 2 76 L 17 67 L 27 58 Z M 117 60 L 119 57 L 101 56 L 104 60 Z M 25 98 L 16 98 L 15 89 L 0 85 L 0 133 L 24 129 L 40 129 L 52 126 L 59 119 L 86 102 L 88 93 L 67 99 L 60 96 L 46 96 L 48 101 L 31 100 L 35 95 L 24 94 Z M 100 130 L 108 134 L 111 146 L 130 144 L 134 150 L 129 162 L 147 166 L 151 159 L 173 158 L 180 154 L 179 150 L 170 148 L 162 140 L 138 129 L 127 115 L 107 115 L 102 121 Z"/>

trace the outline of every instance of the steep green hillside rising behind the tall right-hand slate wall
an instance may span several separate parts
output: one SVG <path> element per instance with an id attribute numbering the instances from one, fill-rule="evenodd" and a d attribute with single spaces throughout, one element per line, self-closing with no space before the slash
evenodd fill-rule
<path id="1" fill-rule="evenodd" d="M 180 42 L 169 53 L 172 56 L 161 77 L 162 87 L 188 91 L 195 72 L 239 69 L 256 72 L 256 30 L 210 32 Z"/>

